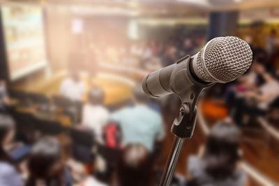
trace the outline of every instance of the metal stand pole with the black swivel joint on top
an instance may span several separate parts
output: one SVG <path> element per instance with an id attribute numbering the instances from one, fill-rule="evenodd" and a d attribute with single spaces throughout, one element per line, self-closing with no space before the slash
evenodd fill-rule
<path id="1" fill-rule="evenodd" d="M 196 100 L 195 100 L 196 102 Z M 190 139 L 195 130 L 197 120 L 197 106 L 192 107 L 190 103 L 181 104 L 178 116 L 172 123 L 172 133 L 174 133 L 174 141 L 167 158 L 167 163 L 160 180 L 160 186 L 169 186 L 179 160 L 179 155 L 183 147 L 185 139 Z"/>

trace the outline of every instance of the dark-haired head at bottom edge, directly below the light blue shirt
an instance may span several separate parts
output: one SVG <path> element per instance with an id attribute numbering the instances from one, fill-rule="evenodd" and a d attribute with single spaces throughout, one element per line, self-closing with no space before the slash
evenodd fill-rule
<path id="1" fill-rule="evenodd" d="M 149 151 L 141 144 L 126 146 L 117 166 L 116 178 L 121 186 L 155 185 L 153 160 Z"/>

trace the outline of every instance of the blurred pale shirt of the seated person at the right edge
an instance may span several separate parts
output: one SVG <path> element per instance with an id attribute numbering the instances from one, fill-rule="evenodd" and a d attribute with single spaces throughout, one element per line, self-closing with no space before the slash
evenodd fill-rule
<path id="1" fill-rule="evenodd" d="M 279 97 L 279 83 L 276 81 L 267 82 L 266 84 L 261 86 L 260 92 L 263 95 L 269 95 L 268 100 L 259 102 L 258 105 L 260 109 L 266 110 L 268 109 L 269 104 L 271 104 L 271 102 L 273 102 L 274 100 L 276 100 L 276 98 Z"/>

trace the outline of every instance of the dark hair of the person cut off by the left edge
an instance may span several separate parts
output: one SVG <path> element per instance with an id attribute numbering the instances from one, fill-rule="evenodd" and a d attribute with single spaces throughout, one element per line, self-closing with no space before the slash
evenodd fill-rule
<path id="1" fill-rule="evenodd" d="M 8 132 L 15 128 L 15 122 L 13 118 L 8 116 L 7 114 L 0 114 L 0 161 L 9 162 L 14 165 L 13 160 L 10 155 L 6 153 L 3 148 L 3 140 L 7 137 Z"/>

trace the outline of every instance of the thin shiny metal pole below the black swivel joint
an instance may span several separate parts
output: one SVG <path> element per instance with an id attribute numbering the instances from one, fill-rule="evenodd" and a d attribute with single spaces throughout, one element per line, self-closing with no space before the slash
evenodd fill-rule
<path id="1" fill-rule="evenodd" d="M 169 186 L 172 182 L 172 177 L 176 168 L 176 164 L 179 160 L 179 155 L 181 153 L 182 146 L 185 139 L 174 136 L 174 141 L 172 143 L 172 149 L 167 158 L 167 163 L 164 169 L 163 176 L 160 180 L 160 186 Z"/>

